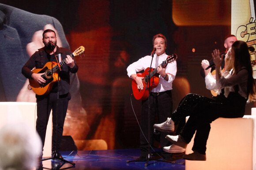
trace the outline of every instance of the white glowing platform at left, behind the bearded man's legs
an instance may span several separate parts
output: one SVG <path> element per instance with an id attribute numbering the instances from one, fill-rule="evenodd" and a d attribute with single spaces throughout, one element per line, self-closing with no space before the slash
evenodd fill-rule
<path id="1" fill-rule="evenodd" d="M 0 102 L 0 128 L 8 122 L 23 120 L 35 130 L 37 119 L 36 103 L 31 102 Z M 52 152 L 52 114 L 46 130 L 43 157 L 51 156 Z"/>

